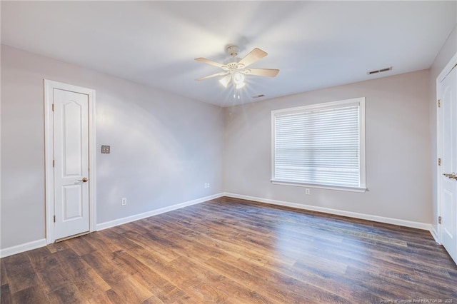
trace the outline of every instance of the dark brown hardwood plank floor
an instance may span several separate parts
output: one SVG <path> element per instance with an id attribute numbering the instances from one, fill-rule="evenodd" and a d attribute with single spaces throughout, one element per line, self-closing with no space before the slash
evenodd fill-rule
<path id="1" fill-rule="evenodd" d="M 0 267 L 1 303 L 457 303 L 457 266 L 427 231 L 234 198 Z"/>

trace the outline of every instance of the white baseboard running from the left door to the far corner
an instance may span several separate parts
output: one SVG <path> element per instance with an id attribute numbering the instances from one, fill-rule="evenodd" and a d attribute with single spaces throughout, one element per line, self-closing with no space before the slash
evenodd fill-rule
<path id="1" fill-rule="evenodd" d="M 187 206 L 195 205 L 197 203 L 203 203 L 203 202 L 206 202 L 206 201 L 211 201 L 212 199 L 220 198 L 221 196 L 224 196 L 224 193 L 217 193 L 217 194 L 214 194 L 212 196 L 205 196 L 204 198 L 197 198 L 195 200 L 186 201 L 184 203 L 179 203 L 179 204 L 176 204 L 176 205 L 173 205 L 173 206 L 164 207 L 164 208 L 156 209 L 156 210 L 153 210 L 153 211 L 147 211 L 147 212 L 144 212 L 144 213 L 139 213 L 139 214 L 136 214 L 134 216 L 127 216 L 126 218 L 118 218 L 117 220 L 114 220 L 114 221 L 108 221 L 108 222 L 104 222 L 104 223 L 99 223 L 99 224 L 96 225 L 96 230 L 104 230 L 104 229 L 111 228 L 111 227 L 114 227 L 114 226 L 119 226 L 119 225 L 130 223 L 130 222 L 133 222 L 133 221 L 138 221 L 138 220 L 141 220 L 142 218 L 149 218 L 150 216 L 156 216 L 156 215 L 161 214 L 161 213 L 174 211 L 176 209 L 180 209 L 180 208 L 184 208 L 184 207 L 187 207 Z"/>

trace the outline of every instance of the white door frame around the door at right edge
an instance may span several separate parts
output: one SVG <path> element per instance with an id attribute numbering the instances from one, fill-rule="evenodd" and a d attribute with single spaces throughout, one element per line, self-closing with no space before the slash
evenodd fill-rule
<path id="1" fill-rule="evenodd" d="M 436 101 L 441 98 L 441 94 L 443 93 L 443 86 L 441 86 L 441 81 L 443 81 L 446 76 L 452 71 L 453 67 L 457 64 L 457 53 L 454 54 L 449 60 L 448 64 L 444 67 L 443 71 L 436 77 Z M 457 68 L 456 68 L 457 69 Z M 438 109 L 438 105 L 436 105 L 436 158 L 441 158 L 441 143 L 442 143 L 442 136 L 441 136 L 441 110 Z M 441 216 L 441 167 L 438 166 L 438 159 L 436 160 L 436 212 L 438 213 L 437 216 Z M 436 241 L 438 244 L 442 244 L 443 240 L 443 229 L 441 228 L 441 224 L 438 223 L 438 218 L 434 218 L 433 221 L 436 221 Z M 457 221 L 457 219 L 456 219 Z"/>

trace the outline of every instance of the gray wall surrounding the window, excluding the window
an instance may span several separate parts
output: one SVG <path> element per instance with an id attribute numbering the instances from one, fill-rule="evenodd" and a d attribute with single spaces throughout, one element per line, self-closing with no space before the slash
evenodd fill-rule
<path id="1" fill-rule="evenodd" d="M 229 193 L 431 223 L 429 71 L 351 83 L 226 108 Z M 366 97 L 366 184 L 352 193 L 270 183 L 271 111 Z"/>

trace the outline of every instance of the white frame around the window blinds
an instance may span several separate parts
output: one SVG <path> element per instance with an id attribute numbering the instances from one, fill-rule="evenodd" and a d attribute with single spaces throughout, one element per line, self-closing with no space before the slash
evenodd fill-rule
<path id="1" fill-rule="evenodd" d="M 271 111 L 271 183 L 277 185 L 287 185 L 287 186 L 301 186 L 306 188 L 323 188 L 331 190 L 340 190 L 340 191 L 351 191 L 351 192 L 366 192 L 366 113 L 365 113 L 365 97 L 345 99 L 341 101 L 331 101 L 324 103 L 313 103 L 307 106 L 297 106 L 294 108 L 281 108 L 278 110 Z M 316 110 L 316 109 L 325 109 L 325 108 L 338 108 L 340 106 L 349 106 L 349 105 L 358 105 L 358 146 L 359 146 L 359 185 L 358 187 L 353 186 L 334 186 L 326 185 L 321 183 L 301 183 L 294 181 L 283 181 L 275 178 L 276 175 L 276 116 L 286 113 L 301 113 L 303 111 Z"/>

